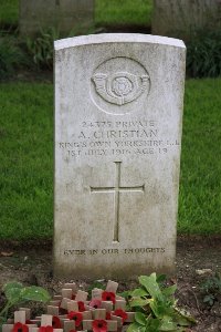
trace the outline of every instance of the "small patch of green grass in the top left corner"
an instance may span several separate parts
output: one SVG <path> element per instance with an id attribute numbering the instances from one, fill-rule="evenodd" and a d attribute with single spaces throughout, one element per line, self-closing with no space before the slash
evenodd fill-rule
<path id="1" fill-rule="evenodd" d="M 0 0 L 0 25 L 17 25 L 19 21 L 19 0 Z"/>

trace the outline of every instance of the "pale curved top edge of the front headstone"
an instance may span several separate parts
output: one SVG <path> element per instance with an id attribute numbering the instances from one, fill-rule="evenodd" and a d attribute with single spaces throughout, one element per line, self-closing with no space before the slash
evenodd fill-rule
<path id="1" fill-rule="evenodd" d="M 182 40 L 162 35 L 140 33 L 101 33 L 80 35 L 54 41 L 54 50 L 69 49 L 74 46 L 99 44 L 99 43 L 152 43 L 186 49 Z"/>

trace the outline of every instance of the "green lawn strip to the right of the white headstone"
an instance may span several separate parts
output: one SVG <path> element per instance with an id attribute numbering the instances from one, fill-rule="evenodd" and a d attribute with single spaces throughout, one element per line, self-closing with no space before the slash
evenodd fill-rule
<path id="1" fill-rule="evenodd" d="M 221 234 L 221 80 L 187 81 L 178 230 Z"/>

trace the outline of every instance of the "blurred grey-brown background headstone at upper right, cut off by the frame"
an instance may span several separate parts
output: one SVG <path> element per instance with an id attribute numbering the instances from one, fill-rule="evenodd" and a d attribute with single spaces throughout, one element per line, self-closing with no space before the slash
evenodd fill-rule
<path id="1" fill-rule="evenodd" d="M 189 38 L 196 30 L 221 29 L 220 0 L 154 0 L 152 34 Z"/>

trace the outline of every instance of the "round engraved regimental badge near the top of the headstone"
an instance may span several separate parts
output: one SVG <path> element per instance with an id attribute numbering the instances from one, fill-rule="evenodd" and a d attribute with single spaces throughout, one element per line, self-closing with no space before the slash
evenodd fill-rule
<path id="1" fill-rule="evenodd" d="M 99 110 L 112 114 L 127 114 L 147 97 L 150 77 L 137 61 L 118 56 L 102 63 L 92 75 L 92 98 Z"/>

